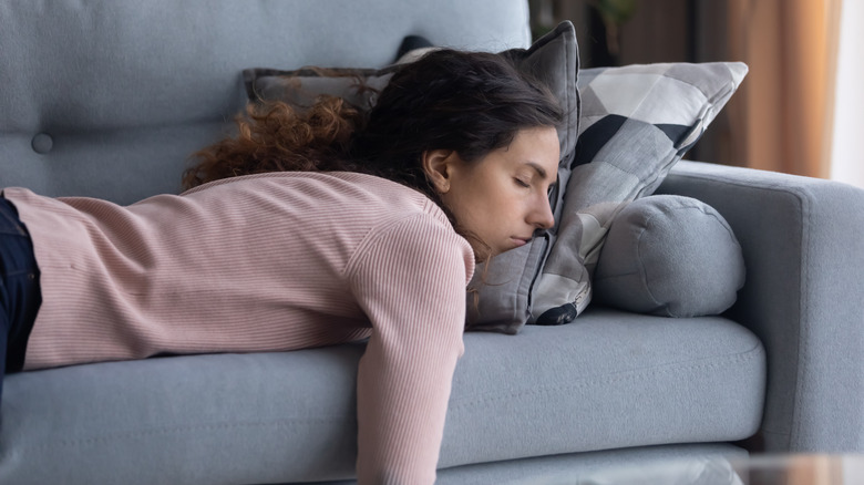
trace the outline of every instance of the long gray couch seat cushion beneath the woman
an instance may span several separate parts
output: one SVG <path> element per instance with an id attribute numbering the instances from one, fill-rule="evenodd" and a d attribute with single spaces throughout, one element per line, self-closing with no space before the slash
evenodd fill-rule
<path id="1" fill-rule="evenodd" d="M 8 375 L 0 483 L 348 478 L 362 351 L 348 344 Z M 764 379 L 760 342 L 720 317 L 589 308 L 569 326 L 470 332 L 440 466 L 743 438 L 758 429 Z"/>

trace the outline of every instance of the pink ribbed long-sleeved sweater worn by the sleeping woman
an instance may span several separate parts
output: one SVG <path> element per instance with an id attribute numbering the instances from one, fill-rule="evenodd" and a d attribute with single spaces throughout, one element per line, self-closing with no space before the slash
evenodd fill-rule
<path id="1" fill-rule="evenodd" d="M 358 477 L 434 482 L 474 256 L 420 193 L 362 174 L 281 173 L 127 207 L 3 195 L 42 271 L 25 369 L 369 337 Z"/>

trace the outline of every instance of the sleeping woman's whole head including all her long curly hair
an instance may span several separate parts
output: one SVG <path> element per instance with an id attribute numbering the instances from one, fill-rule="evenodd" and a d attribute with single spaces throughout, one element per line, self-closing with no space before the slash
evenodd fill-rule
<path id="1" fill-rule="evenodd" d="M 236 137 L 194 155 L 184 185 L 284 171 L 378 175 L 436 202 L 484 259 L 552 224 L 562 117 L 506 56 L 438 50 L 399 68 L 366 114 L 333 96 L 304 110 L 250 104 Z"/>

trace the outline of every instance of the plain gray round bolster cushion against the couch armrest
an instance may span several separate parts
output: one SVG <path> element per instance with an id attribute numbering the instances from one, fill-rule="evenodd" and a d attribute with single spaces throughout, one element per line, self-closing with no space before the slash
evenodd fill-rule
<path id="1" fill-rule="evenodd" d="M 595 299 L 664 317 L 719 314 L 744 285 L 732 228 L 707 204 L 644 197 L 615 217 L 594 275 Z"/>

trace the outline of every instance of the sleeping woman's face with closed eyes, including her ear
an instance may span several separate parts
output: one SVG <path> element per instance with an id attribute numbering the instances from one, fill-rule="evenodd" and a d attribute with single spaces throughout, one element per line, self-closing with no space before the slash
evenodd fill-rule
<path id="1" fill-rule="evenodd" d="M 450 162 L 439 169 L 446 171 L 446 184 L 438 188 L 477 260 L 524 246 L 535 230 L 555 224 L 548 193 L 558 157 L 554 127 L 522 130 L 508 146 L 473 163 L 448 154 Z"/>

